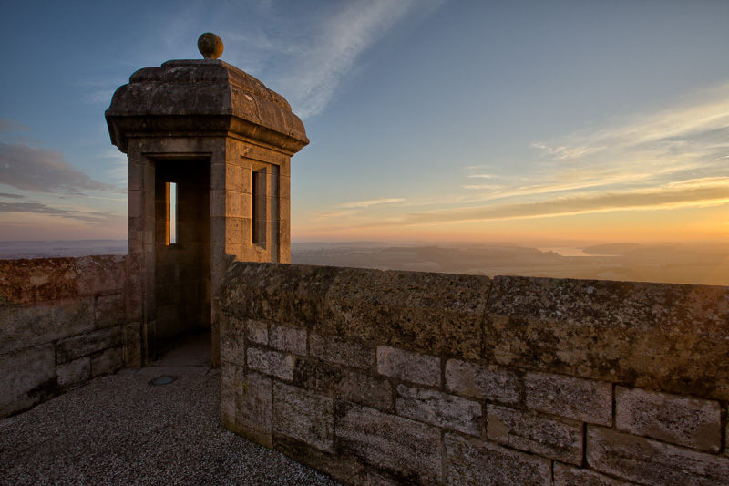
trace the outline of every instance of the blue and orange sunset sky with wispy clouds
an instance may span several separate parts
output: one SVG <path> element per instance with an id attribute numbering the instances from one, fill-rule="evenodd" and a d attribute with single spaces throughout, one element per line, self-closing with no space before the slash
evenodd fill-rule
<path id="1" fill-rule="evenodd" d="M 724 0 L 0 0 L 0 241 L 123 239 L 142 67 L 289 100 L 294 242 L 729 243 Z"/>

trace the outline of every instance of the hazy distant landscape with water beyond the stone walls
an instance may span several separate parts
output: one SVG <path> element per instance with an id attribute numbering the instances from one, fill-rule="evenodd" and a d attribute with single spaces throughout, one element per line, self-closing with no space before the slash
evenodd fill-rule
<path id="1" fill-rule="evenodd" d="M 451 274 L 729 285 L 727 243 L 293 243 L 292 263 Z M 126 254 L 127 240 L 0 242 L 0 258 Z"/>

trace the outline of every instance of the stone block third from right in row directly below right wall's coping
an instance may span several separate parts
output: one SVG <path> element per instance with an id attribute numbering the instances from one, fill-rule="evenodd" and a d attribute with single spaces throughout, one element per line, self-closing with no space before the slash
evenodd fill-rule
<path id="1" fill-rule="evenodd" d="M 505 368 L 482 367 L 449 359 L 446 363 L 446 388 L 464 397 L 514 404 L 519 402 L 521 378 Z"/>

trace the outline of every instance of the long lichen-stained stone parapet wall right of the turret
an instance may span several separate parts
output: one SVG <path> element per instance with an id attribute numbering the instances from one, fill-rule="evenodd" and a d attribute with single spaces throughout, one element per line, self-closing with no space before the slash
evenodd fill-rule
<path id="1" fill-rule="evenodd" d="M 349 484 L 726 484 L 729 288 L 229 267 L 225 427 Z"/>

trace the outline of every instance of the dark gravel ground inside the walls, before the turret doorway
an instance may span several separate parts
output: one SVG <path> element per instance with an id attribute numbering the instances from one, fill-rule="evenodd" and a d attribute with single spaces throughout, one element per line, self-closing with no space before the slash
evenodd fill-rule
<path id="1" fill-rule="evenodd" d="M 0 420 L 0 484 L 340 484 L 224 429 L 219 371 L 141 371 Z"/>

